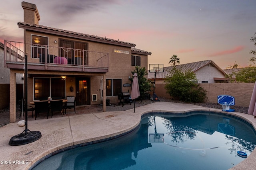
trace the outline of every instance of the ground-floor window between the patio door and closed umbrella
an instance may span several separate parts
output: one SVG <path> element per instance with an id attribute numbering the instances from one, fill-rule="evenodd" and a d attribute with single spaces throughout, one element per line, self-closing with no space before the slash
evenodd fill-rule
<path id="1" fill-rule="evenodd" d="M 106 96 L 118 96 L 122 93 L 122 79 L 106 79 Z"/>

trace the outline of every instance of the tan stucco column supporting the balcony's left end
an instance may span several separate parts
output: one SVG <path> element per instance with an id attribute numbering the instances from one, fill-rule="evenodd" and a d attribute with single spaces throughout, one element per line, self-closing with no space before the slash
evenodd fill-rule
<path id="1" fill-rule="evenodd" d="M 16 74 L 10 69 L 10 123 L 16 122 Z"/>

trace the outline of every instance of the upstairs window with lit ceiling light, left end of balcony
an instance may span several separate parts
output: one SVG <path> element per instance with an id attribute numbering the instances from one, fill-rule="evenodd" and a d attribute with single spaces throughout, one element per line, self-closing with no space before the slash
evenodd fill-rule
<path id="1" fill-rule="evenodd" d="M 47 54 L 48 37 L 31 35 L 31 56 L 32 58 L 40 58 Z"/>

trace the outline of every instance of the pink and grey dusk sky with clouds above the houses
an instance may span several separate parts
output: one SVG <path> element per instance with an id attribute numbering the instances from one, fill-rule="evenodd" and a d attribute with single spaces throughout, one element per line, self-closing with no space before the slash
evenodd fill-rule
<path id="1" fill-rule="evenodd" d="M 24 0 L 39 25 L 108 37 L 149 51 L 148 64 L 178 55 L 180 64 L 212 60 L 247 66 L 256 33 L 256 0 Z M 1 0 L 0 42 L 23 42 L 22 0 Z"/>

